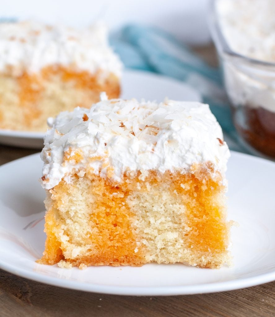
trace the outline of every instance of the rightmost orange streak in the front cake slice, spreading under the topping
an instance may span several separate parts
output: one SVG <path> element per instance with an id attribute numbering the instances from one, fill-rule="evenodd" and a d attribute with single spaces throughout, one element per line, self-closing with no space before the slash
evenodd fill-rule
<path id="1" fill-rule="evenodd" d="M 220 201 L 216 201 L 217 196 L 224 192 L 221 175 L 217 173 L 216 179 L 211 178 L 214 172 L 211 164 L 197 165 L 193 169 L 193 174 L 169 171 L 159 174 L 151 171 L 144 182 L 139 181 L 141 190 L 147 191 L 147 182 L 152 187 L 167 183 L 171 195 L 182 195 L 186 207 L 183 216 L 187 217 L 187 224 L 192 228 L 185 234 L 185 241 L 188 242 L 185 247 L 191 248 L 194 253 L 226 253 L 229 225 L 226 219 L 221 218 L 224 210 L 220 210 Z M 135 184 L 132 180 L 131 183 Z M 186 199 L 186 195 L 189 199 Z"/>

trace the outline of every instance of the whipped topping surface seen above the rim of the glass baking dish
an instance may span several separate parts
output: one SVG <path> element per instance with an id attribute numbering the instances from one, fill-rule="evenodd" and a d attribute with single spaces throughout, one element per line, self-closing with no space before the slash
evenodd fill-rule
<path id="1" fill-rule="evenodd" d="M 218 0 L 217 11 L 233 51 L 275 62 L 274 0 Z"/>

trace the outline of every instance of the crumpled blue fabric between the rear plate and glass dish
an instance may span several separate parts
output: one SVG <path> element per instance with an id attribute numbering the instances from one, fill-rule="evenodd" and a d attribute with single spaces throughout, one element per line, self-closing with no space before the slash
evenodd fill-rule
<path id="1" fill-rule="evenodd" d="M 231 150 L 248 152 L 238 142 L 219 68 L 208 66 L 190 48 L 155 27 L 127 25 L 110 36 L 126 68 L 147 70 L 193 86 L 210 105 Z"/>

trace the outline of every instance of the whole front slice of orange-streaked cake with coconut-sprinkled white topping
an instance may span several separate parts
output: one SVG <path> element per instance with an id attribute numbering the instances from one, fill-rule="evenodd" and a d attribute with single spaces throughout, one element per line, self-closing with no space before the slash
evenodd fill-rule
<path id="1" fill-rule="evenodd" d="M 208 105 L 107 100 L 60 113 L 42 155 L 43 264 L 229 260 L 229 150 Z"/>

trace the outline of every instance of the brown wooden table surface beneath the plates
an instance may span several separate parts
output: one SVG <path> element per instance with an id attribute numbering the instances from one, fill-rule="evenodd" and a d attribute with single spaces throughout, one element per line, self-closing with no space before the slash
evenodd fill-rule
<path id="1" fill-rule="evenodd" d="M 198 49 L 215 64 L 213 47 Z M 34 149 L 0 145 L 0 165 Z M 185 296 L 118 296 L 58 288 L 0 269 L 0 317 L 275 316 L 275 281 L 235 291 Z"/>

